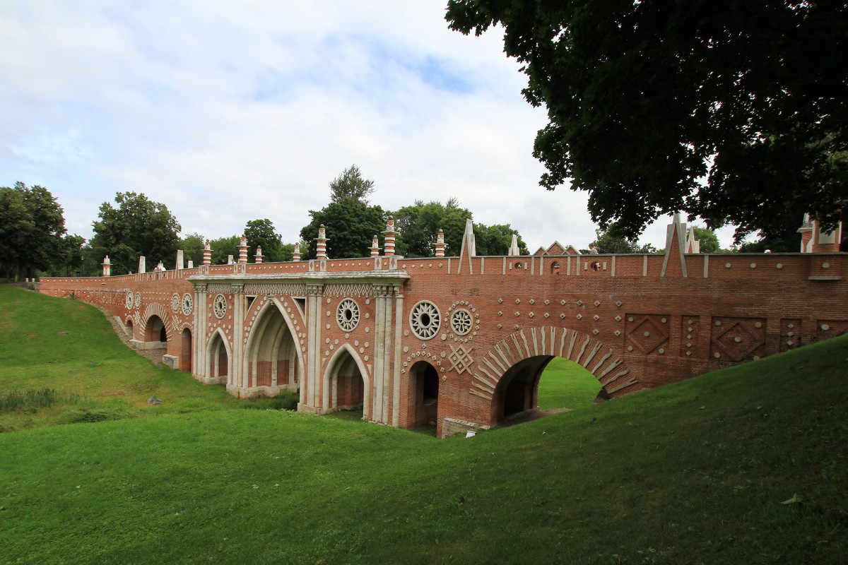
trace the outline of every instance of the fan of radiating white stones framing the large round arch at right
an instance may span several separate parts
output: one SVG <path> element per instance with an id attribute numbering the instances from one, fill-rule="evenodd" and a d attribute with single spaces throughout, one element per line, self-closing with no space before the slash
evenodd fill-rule
<path id="1" fill-rule="evenodd" d="M 603 341 L 578 330 L 540 326 L 518 330 L 490 347 L 482 357 L 477 357 L 471 370 L 469 392 L 490 404 L 497 402 L 495 393 L 499 391 L 501 380 L 512 368 L 533 357 L 548 357 L 547 361 L 563 357 L 578 363 L 593 374 L 611 396 L 643 388 L 628 363 Z"/>

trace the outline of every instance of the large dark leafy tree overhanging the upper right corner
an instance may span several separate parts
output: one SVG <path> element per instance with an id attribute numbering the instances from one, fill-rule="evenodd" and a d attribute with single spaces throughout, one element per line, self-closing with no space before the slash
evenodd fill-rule
<path id="1" fill-rule="evenodd" d="M 848 215 L 845 3 L 449 0 L 446 18 L 503 25 L 548 109 L 540 184 L 588 191 L 598 224 L 634 238 L 679 210 L 739 238 Z"/>

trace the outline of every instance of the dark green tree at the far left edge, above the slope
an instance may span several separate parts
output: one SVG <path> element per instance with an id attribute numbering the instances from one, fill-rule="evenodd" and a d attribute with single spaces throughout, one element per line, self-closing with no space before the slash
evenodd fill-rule
<path id="1" fill-rule="evenodd" d="M 8 279 L 33 278 L 59 260 L 64 214 L 43 186 L 0 187 L 0 265 Z"/>

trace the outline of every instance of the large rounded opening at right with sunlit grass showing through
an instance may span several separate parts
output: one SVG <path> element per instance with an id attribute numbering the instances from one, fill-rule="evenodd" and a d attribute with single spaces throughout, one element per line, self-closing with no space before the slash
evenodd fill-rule
<path id="1" fill-rule="evenodd" d="M 567 410 L 603 398 L 603 387 L 587 369 L 562 357 L 540 355 L 513 365 L 498 382 L 492 424 L 528 416 L 529 411 Z"/>

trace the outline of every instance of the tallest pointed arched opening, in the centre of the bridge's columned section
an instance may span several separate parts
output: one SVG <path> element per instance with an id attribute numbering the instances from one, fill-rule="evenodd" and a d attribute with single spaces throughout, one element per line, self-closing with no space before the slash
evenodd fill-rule
<path id="1" fill-rule="evenodd" d="M 248 386 L 298 390 L 298 355 L 286 319 L 273 304 L 259 314 L 248 342 Z"/>

